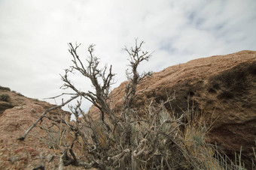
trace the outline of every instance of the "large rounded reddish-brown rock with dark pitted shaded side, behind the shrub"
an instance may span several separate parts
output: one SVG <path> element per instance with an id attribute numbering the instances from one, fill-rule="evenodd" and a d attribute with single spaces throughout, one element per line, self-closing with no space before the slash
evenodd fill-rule
<path id="1" fill-rule="evenodd" d="M 123 82 L 111 92 L 117 111 L 123 102 L 125 85 Z M 171 104 L 176 114 L 182 114 L 190 103 L 209 118 L 217 119 L 209 133 L 210 142 L 216 142 L 231 158 L 242 146 L 242 160 L 251 166 L 251 148 L 256 139 L 255 51 L 200 58 L 168 67 L 143 79 L 138 92 L 134 101 L 137 109 L 146 108 L 152 99 L 160 103 L 175 97 Z M 170 109 L 169 104 L 166 108 Z"/>

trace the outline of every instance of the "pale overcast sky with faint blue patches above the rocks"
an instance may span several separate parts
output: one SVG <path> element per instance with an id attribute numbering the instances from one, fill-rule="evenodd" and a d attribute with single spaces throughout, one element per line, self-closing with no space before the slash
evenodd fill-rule
<path id="1" fill-rule="evenodd" d="M 123 46 L 135 37 L 154 51 L 140 71 L 256 50 L 255 11 L 255 0 L 0 0 L 0 85 L 39 100 L 61 94 L 69 42 L 81 43 L 84 58 L 96 44 L 95 55 L 117 73 L 115 86 L 126 79 Z M 81 90 L 90 88 L 75 76 Z"/>

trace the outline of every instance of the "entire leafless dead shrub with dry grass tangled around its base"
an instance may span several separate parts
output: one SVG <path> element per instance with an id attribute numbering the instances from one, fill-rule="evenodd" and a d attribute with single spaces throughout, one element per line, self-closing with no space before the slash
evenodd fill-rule
<path id="1" fill-rule="evenodd" d="M 52 124 L 41 126 L 48 134 L 47 144 L 59 154 L 59 169 L 63 166 L 81 166 L 85 169 L 242 169 L 232 163 L 215 145 L 206 143 L 206 134 L 213 121 L 207 120 L 203 113 L 188 107 L 181 115 L 170 112 L 175 96 L 166 94 L 167 100 L 160 104 L 151 100 L 144 115 L 133 108 L 136 103 L 136 86 L 145 76 L 137 71 L 142 61 L 148 61 L 151 53 L 142 51 L 142 43 L 131 49 L 125 47 L 130 55 L 130 70 L 126 71 L 127 83 L 123 105 L 116 112 L 110 95 L 114 83 L 111 66 L 99 68 L 99 58 L 94 55 L 94 46 L 88 48 L 90 54 L 86 64 L 78 56 L 80 45 L 69 43 L 72 66 L 62 75 L 64 89 L 72 89 L 72 97 L 59 106 L 45 110 L 38 121 L 20 137 L 27 133 L 42 118 Z M 92 83 L 95 91 L 79 91 L 69 79 L 69 73 L 81 73 Z M 55 98 L 55 97 L 53 97 Z M 85 98 L 99 109 L 99 118 L 81 109 Z M 52 109 L 60 108 L 72 100 L 79 99 L 77 105 L 70 106 L 75 121 L 66 120 L 63 115 L 47 115 Z M 59 150 L 59 152 L 56 152 Z"/>

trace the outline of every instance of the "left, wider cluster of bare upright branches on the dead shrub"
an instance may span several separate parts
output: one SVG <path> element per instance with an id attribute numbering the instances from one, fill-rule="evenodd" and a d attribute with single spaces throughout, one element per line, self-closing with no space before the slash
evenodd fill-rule
<path id="1" fill-rule="evenodd" d="M 88 48 L 88 52 L 90 53 L 89 58 L 87 58 L 87 66 L 85 67 L 81 58 L 77 53 L 77 49 L 79 45 L 73 46 L 72 43 L 69 43 L 69 52 L 72 55 L 73 65 L 71 69 L 66 70 L 66 73 L 62 77 L 62 81 L 65 84 L 62 86 L 63 88 L 71 88 L 76 93 L 80 94 L 94 106 L 96 106 L 101 112 L 101 120 L 105 121 L 105 114 L 110 117 L 114 115 L 111 114 L 111 109 L 108 103 L 108 94 L 110 92 L 111 85 L 114 83 L 114 73 L 112 73 L 112 65 L 109 67 L 107 73 L 107 66 L 103 69 L 99 69 L 99 58 L 97 58 L 94 52 L 94 45 L 90 45 Z M 90 82 L 93 84 L 93 88 L 95 88 L 95 92 L 87 91 L 87 92 L 80 92 L 75 85 L 72 85 L 72 82 L 68 79 L 68 73 L 72 73 L 74 70 L 78 70 L 84 77 L 90 79 Z M 100 82 L 103 82 L 101 85 Z M 112 118 L 114 119 L 114 118 Z"/>

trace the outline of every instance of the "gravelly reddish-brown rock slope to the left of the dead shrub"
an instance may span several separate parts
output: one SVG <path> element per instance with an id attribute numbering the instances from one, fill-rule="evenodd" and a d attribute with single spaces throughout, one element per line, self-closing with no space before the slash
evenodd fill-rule
<path id="1" fill-rule="evenodd" d="M 50 107 L 53 107 L 50 103 L 24 97 L 0 86 L 0 169 L 34 169 L 41 165 L 41 159 L 46 169 L 58 168 L 59 158 L 54 157 L 53 149 L 47 144 L 49 136 L 44 130 L 35 127 L 24 141 L 17 140 L 44 109 Z M 69 112 L 60 109 L 53 110 L 50 115 L 60 113 L 70 116 Z M 49 121 L 44 119 L 41 124 L 47 123 Z"/>

